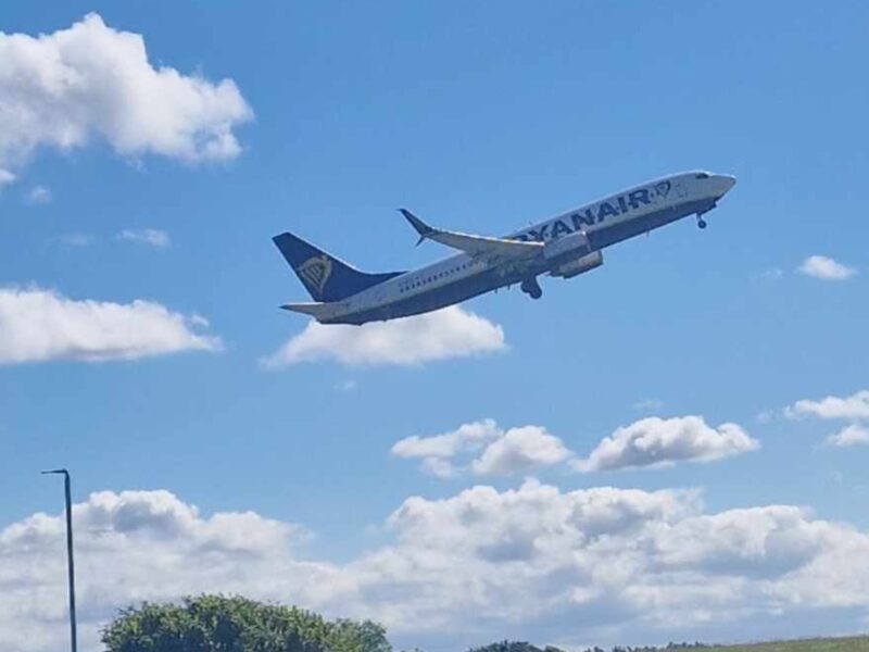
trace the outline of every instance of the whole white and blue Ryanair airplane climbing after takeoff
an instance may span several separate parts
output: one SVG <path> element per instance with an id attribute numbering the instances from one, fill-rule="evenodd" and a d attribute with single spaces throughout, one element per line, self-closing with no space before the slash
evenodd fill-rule
<path id="1" fill-rule="evenodd" d="M 436 228 L 400 209 L 419 236 L 417 246 L 432 240 L 461 252 L 410 272 L 367 274 L 284 233 L 273 240 L 314 302 L 280 308 L 322 324 L 362 325 L 431 312 L 514 284 L 540 299 L 539 276 L 585 274 L 603 265 L 607 247 L 689 215 L 706 228 L 704 215 L 735 183 L 733 176 L 704 171 L 673 174 L 503 238 Z"/>

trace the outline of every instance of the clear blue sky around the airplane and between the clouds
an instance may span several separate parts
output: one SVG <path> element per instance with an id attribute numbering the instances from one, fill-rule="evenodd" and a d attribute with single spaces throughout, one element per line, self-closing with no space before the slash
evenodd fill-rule
<path id="1" fill-rule="evenodd" d="M 79 500 L 165 489 L 205 516 L 252 511 L 303 525 L 314 535 L 303 554 L 337 565 L 402 539 L 385 522 L 408 497 L 516 491 L 528 475 L 563 493 L 700 488 L 705 513 L 797 505 L 866 532 L 869 449 L 824 444 L 861 417 L 783 412 L 867 389 L 864 3 L 14 3 L 0 10 L 0 30 L 50 35 L 89 12 L 141 35 L 154 67 L 231 79 L 252 117 L 236 106 L 227 120 L 240 150 L 215 156 L 155 140 L 125 150 L 100 121 L 134 118 L 99 106 L 67 148 L 45 136 L 14 149 L 21 135 L 0 126 L 0 163 L 5 155 L 15 175 L 0 193 L 0 285 L 148 300 L 201 315 L 209 325 L 190 330 L 222 344 L 133 361 L 7 360 L 0 526 L 56 514 L 59 487 L 37 472 L 66 465 Z M 0 93 L 14 95 L 14 64 L 2 65 Z M 154 96 L 134 105 L 137 137 L 172 109 Z M 685 221 L 622 243 L 589 276 L 544 281 L 540 302 L 514 290 L 464 306 L 503 328 L 502 350 L 410 366 L 261 364 L 305 328 L 277 309 L 305 294 L 274 250 L 276 233 L 365 269 L 411 268 L 449 252 L 414 248 L 398 206 L 496 235 L 690 168 L 739 179 L 706 231 Z M 46 193 L 32 197 L 37 187 Z M 118 237 L 141 229 L 171 242 Z M 811 255 L 856 274 L 801 273 Z M 27 331 L 38 334 L 45 322 L 34 319 Z M 0 350 L 14 348 L 10 333 L 0 318 Z M 587 456 L 651 415 L 735 423 L 759 449 L 664 468 L 551 464 L 448 480 L 390 453 L 403 438 L 491 418 L 540 426 Z M 790 631 L 866 628 L 868 606 L 867 593 L 845 615 L 820 604 Z M 455 638 L 411 629 L 396 641 L 440 650 L 514 631 L 567 643 L 733 640 L 774 636 L 795 618 L 784 610 L 778 620 L 665 627 L 620 623 L 613 606 L 612 627 L 589 640 L 570 625 L 580 607 L 564 609 L 481 615 Z M 348 611 L 366 613 L 364 601 Z"/>

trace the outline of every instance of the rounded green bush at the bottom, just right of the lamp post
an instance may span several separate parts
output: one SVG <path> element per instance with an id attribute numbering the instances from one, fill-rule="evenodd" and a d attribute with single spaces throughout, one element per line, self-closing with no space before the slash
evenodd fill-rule
<path id="1" fill-rule="evenodd" d="M 108 652 L 392 651 L 383 627 L 370 620 L 326 620 L 294 606 L 224 595 L 125 609 L 102 642 Z"/>

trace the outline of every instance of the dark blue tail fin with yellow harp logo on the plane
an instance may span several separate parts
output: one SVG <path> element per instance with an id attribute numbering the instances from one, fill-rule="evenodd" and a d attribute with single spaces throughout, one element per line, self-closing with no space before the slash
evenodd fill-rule
<path id="1" fill-rule="evenodd" d="M 272 238 L 314 301 L 342 301 L 404 274 L 365 274 L 292 234 Z"/>

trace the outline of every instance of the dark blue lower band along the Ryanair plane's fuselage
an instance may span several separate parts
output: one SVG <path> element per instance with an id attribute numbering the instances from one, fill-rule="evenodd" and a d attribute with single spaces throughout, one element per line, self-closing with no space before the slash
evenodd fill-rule
<path id="1" fill-rule="evenodd" d="M 593 250 L 604 249 L 618 242 L 622 242 L 634 236 L 644 234 L 652 229 L 665 226 L 677 220 L 698 212 L 706 212 L 715 205 L 714 199 L 693 201 L 677 206 L 670 206 L 650 213 L 642 217 L 616 223 L 612 226 L 602 226 L 588 233 L 589 243 Z M 474 276 L 457 279 L 439 288 L 432 288 L 418 292 L 406 299 L 395 301 L 388 305 L 382 305 L 364 312 L 353 313 L 330 321 L 330 324 L 365 324 L 395 317 L 406 317 L 417 315 L 455 303 L 461 303 L 479 294 L 504 286 L 520 283 L 530 275 L 538 275 L 549 272 L 549 268 L 541 265 L 539 269 L 526 269 L 521 273 L 514 272 L 504 274 L 498 267 L 484 269 Z"/>

